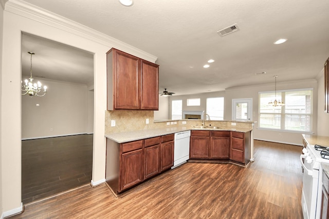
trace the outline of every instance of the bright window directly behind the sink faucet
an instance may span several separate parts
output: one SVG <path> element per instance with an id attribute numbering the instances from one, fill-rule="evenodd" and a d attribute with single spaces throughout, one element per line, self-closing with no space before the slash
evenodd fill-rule
<path id="1" fill-rule="evenodd" d="M 207 98 L 206 109 L 211 120 L 224 120 L 224 97 Z"/>

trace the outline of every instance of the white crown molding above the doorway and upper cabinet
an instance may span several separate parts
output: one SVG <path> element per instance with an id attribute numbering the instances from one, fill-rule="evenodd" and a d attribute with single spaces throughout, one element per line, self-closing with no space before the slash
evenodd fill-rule
<path id="1" fill-rule="evenodd" d="M 102 32 L 71 21 L 66 17 L 52 13 L 51 11 L 47 11 L 43 8 L 29 4 L 22 0 L 9 0 L 5 5 L 5 11 L 32 19 L 33 21 L 49 25 L 60 30 L 64 30 L 79 37 L 89 39 L 98 44 L 107 46 L 108 50 L 114 47 L 137 57 L 143 58 L 149 62 L 155 63 L 157 60 L 157 57 L 150 53 L 144 52 L 136 47 L 119 41 L 114 37 L 108 36 Z"/>

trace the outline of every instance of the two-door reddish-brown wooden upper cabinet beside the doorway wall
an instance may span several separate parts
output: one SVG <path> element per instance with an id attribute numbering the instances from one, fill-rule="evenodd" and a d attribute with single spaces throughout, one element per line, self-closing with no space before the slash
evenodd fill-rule
<path id="1" fill-rule="evenodd" d="M 114 48 L 106 55 L 107 110 L 158 110 L 159 66 Z"/>

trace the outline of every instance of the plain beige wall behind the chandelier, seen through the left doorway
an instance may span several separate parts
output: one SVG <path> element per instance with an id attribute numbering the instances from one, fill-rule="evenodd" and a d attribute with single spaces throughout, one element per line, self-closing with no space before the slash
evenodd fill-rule
<path id="1" fill-rule="evenodd" d="M 22 96 L 22 139 L 87 133 L 87 86 L 38 81 L 47 85 L 47 93 Z M 94 108 L 94 103 L 90 105 Z"/>

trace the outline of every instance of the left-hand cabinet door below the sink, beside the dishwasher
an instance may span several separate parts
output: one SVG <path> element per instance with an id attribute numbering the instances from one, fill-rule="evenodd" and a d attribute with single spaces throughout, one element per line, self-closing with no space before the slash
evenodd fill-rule
<path id="1" fill-rule="evenodd" d="M 209 136 L 191 136 L 190 158 L 209 158 Z"/>

